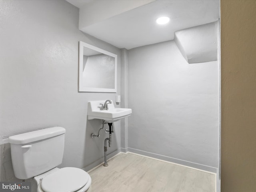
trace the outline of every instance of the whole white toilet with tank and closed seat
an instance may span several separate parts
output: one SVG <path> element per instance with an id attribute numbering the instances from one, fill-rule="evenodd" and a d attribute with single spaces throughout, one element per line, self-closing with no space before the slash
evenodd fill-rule
<path id="1" fill-rule="evenodd" d="M 38 192 L 89 192 L 90 175 L 62 163 L 64 134 L 52 127 L 9 137 L 14 174 L 19 179 L 34 177 Z"/>

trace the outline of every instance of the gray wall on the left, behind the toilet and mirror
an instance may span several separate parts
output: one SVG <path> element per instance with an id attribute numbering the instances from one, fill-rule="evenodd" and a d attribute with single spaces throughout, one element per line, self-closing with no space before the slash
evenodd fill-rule
<path id="1" fill-rule="evenodd" d="M 105 132 L 90 137 L 102 124 L 87 120 L 87 102 L 115 100 L 116 94 L 78 93 L 78 42 L 117 54 L 119 79 L 120 49 L 80 32 L 78 16 L 78 8 L 64 0 L 0 1 L 2 181 L 15 180 L 10 145 L 3 138 L 41 128 L 66 128 L 61 167 L 88 170 L 103 161 Z M 108 153 L 120 151 L 120 122 L 114 126 Z"/>

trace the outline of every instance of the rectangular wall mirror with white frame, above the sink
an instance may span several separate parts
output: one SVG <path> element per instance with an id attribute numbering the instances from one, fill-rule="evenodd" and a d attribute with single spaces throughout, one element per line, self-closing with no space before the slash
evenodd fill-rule
<path id="1" fill-rule="evenodd" d="M 116 92 L 117 55 L 79 42 L 79 92 Z"/>

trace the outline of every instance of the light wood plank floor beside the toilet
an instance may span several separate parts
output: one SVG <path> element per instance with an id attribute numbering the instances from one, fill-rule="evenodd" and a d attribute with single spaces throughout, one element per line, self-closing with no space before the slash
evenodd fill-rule
<path id="1" fill-rule="evenodd" d="M 120 153 L 89 172 L 91 192 L 215 192 L 215 175 Z"/>

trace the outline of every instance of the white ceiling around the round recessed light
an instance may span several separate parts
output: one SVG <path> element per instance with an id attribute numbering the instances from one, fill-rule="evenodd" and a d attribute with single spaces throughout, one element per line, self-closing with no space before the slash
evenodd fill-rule
<path id="1" fill-rule="evenodd" d="M 118 48 L 126 49 L 173 40 L 175 31 L 214 22 L 220 18 L 219 0 L 144 0 L 145 4 L 129 10 L 121 7 L 122 1 L 67 1 L 80 8 L 80 30 Z M 122 11 L 111 14 L 114 11 L 110 9 L 104 13 L 108 11 L 106 2 L 109 2 L 109 6 L 116 3 L 114 10 Z M 136 3 L 134 0 L 129 2 Z M 103 9 L 97 8 L 100 6 L 99 3 L 105 3 L 102 4 Z M 100 19 L 86 24 L 84 18 L 81 18 L 82 10 L 87 13 L 88 10 L 91 11 L 87 18 Z M 104 17 L 102 14 L 109 16 Z M 160 16 L 170 17 L 170 22 L 161 26 L 156 24 L 155 21 Z"/>

